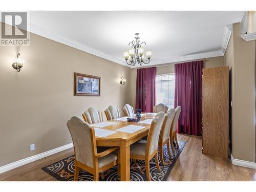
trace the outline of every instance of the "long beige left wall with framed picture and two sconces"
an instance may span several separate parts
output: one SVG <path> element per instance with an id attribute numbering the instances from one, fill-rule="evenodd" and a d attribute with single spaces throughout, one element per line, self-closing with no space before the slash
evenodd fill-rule
<path id="1" fill-rule="evenodd" d="M 12 68 L 17 52 L 26 60 L 19 73 Z M 100 76 L 101 96 L 74 97 L 74 72 Z M 90 106 L 122 109 L 131 102 L 130 73 L 128 67 L 35 34 L 29 47 L 0 47 L 0 166 L 71 143 L 67 120 Z M 30 152 L 31 143 L 35 151 Z"/>

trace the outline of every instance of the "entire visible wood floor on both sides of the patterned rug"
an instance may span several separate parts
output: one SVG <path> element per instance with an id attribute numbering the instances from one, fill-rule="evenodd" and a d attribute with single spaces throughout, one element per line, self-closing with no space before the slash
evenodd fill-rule
<path id="1" fill-rule="evenodd" d="M 203 155 L 201 137 L 178 134 L 187 141 L 167 181 L 256 181 L 256 170 L 230 160 Z M 0 181 L 57 181 L 41 167 L 74 154 L 73 148 L 0 174 Z"/>

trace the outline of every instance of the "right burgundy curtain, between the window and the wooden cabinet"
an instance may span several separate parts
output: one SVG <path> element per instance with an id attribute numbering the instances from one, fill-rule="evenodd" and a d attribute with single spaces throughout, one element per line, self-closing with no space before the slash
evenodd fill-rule
<path id="1" fill-rule="evenodd" d="M 174 105 L 181 106 L 178 133 L 201 135 L 202 132 L 202 69 L 203 61 L 175 65 Z"/>

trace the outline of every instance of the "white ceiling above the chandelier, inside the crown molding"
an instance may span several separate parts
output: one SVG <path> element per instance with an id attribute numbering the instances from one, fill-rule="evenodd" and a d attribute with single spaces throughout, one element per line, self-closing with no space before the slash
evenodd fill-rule
<path id="1" fill-rule="evenodd" d="M 157 65 L 223 55 L 226 26 L 241 22 L 243 13 L 30 11 L 29 30 L 121 65 L 126 65 L 123 51 L 139 33 L 140 40 L 146 42 L 144 48 L 152 51 L 151 65 Z"/>

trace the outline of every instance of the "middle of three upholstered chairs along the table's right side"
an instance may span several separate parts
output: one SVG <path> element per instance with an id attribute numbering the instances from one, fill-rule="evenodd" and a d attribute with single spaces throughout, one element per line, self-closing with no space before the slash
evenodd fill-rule
<path id="1" fill-rule="evenodd" d="M 161 158 L 161 162 L 162 162 L 163 166 L 164 166 L 163 146 L 165 144 L 167 145 L 168 155 L 169 155 L 169 157 L 171 156 L 171 154 L 170 154 L 170 145 L 169 145 L 169 137 L 170 137 L 170 127 L 172 126 L 174 116 L 175 116 L 175 110 L 173 108 L 170 109 L 166 113 L 164 121 L 163 121 L 163 125 L 162 125 L 162 130 L 161 130 L 161 133 L 160 133 L 160 137 L 159 137 L 160 158 Z"/>

